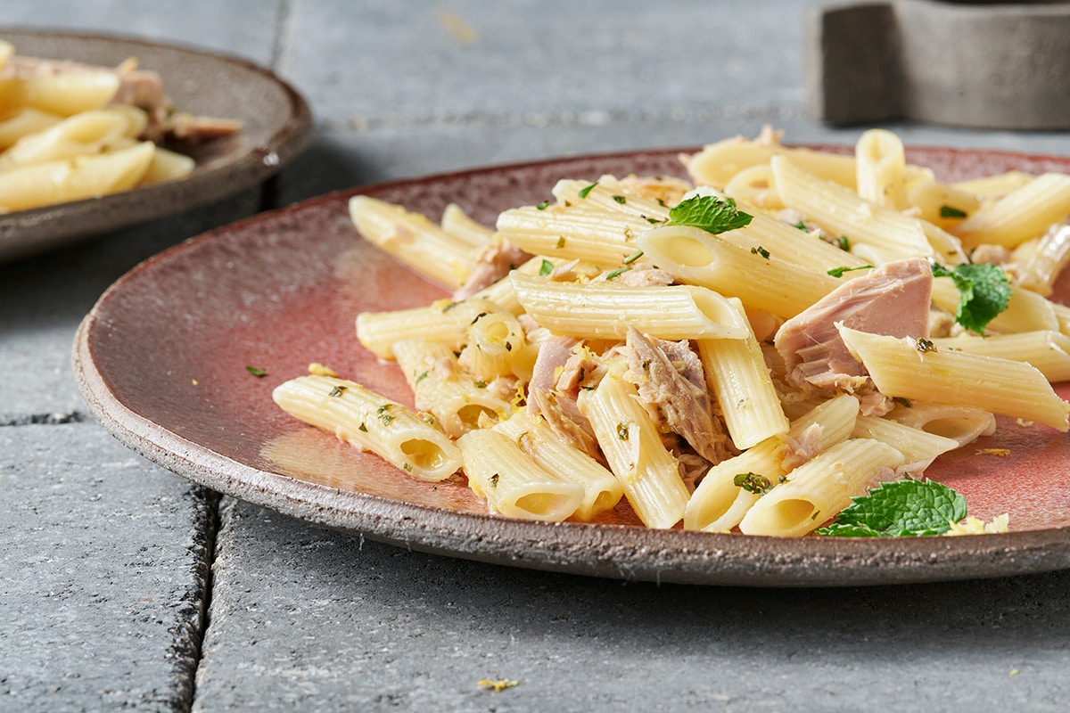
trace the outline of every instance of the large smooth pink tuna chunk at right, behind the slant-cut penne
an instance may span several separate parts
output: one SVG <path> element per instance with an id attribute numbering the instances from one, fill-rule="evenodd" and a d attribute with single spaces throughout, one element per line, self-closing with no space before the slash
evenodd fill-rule
<path id="1" fill-rule="evenodd" d="M 788 383 L 847 392 L 862 387 L 866 369 L 847 352 L 836 324 L 888 337 L 927 337 L 931 292 L 932 268 L 923 258 L 885 263 L 845 281 L 777 331 L 774 343 Z"/>

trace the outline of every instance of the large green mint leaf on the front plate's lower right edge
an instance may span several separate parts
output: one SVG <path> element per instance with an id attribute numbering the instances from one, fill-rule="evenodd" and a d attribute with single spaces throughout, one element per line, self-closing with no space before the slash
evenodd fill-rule
<path id="1" fill-rule="evenodd" d="M 947 485 L 908 478 L 882 483 L 840 511 L 817 534 L 896 538 L 943 534 L 966 516 L 966 499 Z"/>

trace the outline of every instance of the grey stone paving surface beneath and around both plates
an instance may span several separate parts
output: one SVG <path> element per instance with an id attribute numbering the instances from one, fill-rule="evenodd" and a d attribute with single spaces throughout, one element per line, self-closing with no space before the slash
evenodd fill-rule
<path id="1" fill-rule="evenodd" d="M 0 266 L 0 710 L 1059 711 L 1070 572 L 773 591 L 622 585 L 363 542 L 228 502 L 204 657 L 210 500 L 87 415 L 96 296 L 144 258 L 333 188 L 806 117 L 804 0 L 9 3 L 0 21 L 274 62 L 320 139 L 263 193 Z M 474 41 L 469 30 L 475 32 Z M 911 144 L 1070 153 L 1057 133 L 889 125 Z M 147 601 L 151 599 L 152 601 Z M 516 687 L 480 689 L 484 678 Z"/>

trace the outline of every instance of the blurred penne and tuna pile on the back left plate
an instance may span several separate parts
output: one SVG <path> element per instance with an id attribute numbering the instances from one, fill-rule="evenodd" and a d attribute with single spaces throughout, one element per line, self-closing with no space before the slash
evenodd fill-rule
<path id="1" fill-rule="evenodd" d="M 158 75 L 133 61 L 106 68 L 39 60 L 0 41 L 0 213 L 183 179 L 194 159 L 159 142 L 238 129 L 174 112 Z"/>

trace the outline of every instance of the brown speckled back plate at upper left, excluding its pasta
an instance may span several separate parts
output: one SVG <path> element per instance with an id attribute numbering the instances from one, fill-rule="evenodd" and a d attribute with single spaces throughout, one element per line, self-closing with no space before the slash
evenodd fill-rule
<path id="1" fill-rule="evenodd" d="M 179 108 L 238 119 L 243 127 L 234 137 L 193 149 L 197 168 L 184 181 L 0 215 L 0 262 L 217 201 L 272 175 L 312 138 L 304 97 L 246 60 L 103 35 L 0 29 L 0 40 L 28 57 L 105 66 L 136 57 L 140 67 L 160 74 Z"/>

